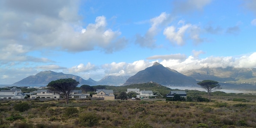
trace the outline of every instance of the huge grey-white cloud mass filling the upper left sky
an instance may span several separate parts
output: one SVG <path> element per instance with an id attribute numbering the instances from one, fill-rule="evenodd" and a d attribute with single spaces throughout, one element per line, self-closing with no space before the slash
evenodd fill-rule
<path id="1" fill-rule="evenodd" d="M 95 23 L 82 24 L 78 9 L 78 0 L 1 1 L 0 54 L 4 57 L 0 63 L 12 61 L 10 58 L 27 61 L 31 58 L 27 53 L 46 48 L 112 53 L 127 45 L 128 40 L 120 37 L 119 30 L 107 27 L 106 17 L 98 16 Z"/>

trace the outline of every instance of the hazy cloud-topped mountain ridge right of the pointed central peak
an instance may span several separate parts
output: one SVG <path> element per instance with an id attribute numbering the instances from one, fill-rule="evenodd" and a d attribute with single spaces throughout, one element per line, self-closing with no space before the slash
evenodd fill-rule
<path id="1" fill-rule="evenodd" d="M 184 71 L 182 74 L 196 80 L 215 80 L 222 83 L 256 83 L 256 68 L 201 68 Z"/>

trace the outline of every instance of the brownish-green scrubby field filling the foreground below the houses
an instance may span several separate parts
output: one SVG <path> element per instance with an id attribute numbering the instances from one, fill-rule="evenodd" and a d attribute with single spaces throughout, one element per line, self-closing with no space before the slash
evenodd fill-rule
<path id="1" fill-rule="evenodd" d="M 225 98 L 226 97 L 226 98 Z M 256 128 L 254 95 L 188 101 L 1 101 L 0 128 Z"/>

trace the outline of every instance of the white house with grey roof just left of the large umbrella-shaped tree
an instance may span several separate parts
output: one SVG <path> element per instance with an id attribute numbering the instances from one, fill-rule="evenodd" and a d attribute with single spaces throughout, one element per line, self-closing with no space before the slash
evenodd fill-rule
<path id="1" fill-rule="evenodd" d="M 48 89 L 38 89 L 36 95 L 30 95 L 30 98 L 60 98 L 59 94 L 50 92 Z"/>

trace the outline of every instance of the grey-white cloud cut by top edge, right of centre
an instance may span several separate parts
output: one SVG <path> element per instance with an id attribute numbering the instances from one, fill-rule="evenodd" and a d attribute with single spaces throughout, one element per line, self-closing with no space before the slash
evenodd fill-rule
<path id="1" fill-rule="evenodd" d="M 173 13 L 191 13 L 202 11 L 212 0 L 176 0 L 173 1 Z"/>

